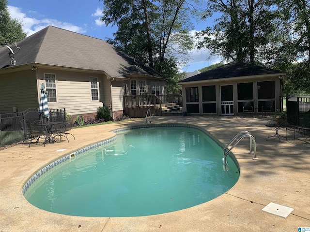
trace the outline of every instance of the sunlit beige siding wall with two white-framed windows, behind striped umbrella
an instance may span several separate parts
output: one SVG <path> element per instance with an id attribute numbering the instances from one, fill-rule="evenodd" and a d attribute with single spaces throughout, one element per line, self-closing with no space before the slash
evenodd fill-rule
<path id="1" fill-rule="evenodd" d="M 71 115 L 95 113 L 97 108 L 103 105 L 102 94 L 104 74 L 68 72 L 59 70 L 39 70 L 38 86 L 45 83 L 45 73 L 56 75 L 57 102 L 48 102 L 48 108 L 66 108 Z M 99 88 L 99 100 L 92 101 L 90 77 L 97 77 Z"/>

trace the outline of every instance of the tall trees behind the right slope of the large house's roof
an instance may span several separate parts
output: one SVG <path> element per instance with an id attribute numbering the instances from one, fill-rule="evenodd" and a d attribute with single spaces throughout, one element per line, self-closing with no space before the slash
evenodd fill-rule
<path id="1" fill-rule="evenodd" d="M 172 78 L 193 47 L 186 0 L 103 0 L 106 25 L 117 25 L 108 42 Z M 182 15 L 182 17 L 180 16 Z"/>

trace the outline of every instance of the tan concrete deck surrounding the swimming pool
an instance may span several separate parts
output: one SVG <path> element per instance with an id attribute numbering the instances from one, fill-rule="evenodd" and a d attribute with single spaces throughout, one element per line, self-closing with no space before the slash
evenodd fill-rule
<path id="1" fill-rule="evenodd" d="M 248 139 L 233 154 L 240 166 L 240 178 L 228 192 L 216 199 L 184 210 L 146 217 L 74 217 L 40 210 L 22 194 L 25 182 L 52 160 L 94 142 L 114 136 L 109 132 L 145 119 L 73 129 L 76 140 L 40 145 L 16 145 L 0 150 L 0 232 L 297 232 L 310 227 L 310 144 L 266 138 L 275 130 L 266 127 L 270 118 L 237 116 L 154 117 L 156 123 L 186 123 L 209 131 L 228 144 L 239 131 L 249 131 L 257 144 L 257 157 L 248 154 Z M 285 131 L 279 131 L 285 135 Z M 309 140 L 308 140 L 309 141 Z M 64 151 L 58 151 L 65 149 Z M 294 211 L 286 218 L 263 212 L 269 203 Z"/>

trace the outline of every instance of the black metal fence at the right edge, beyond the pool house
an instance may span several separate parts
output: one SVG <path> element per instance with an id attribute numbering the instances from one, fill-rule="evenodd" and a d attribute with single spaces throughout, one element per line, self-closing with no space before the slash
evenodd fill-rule
<path id="1" fill-rule="evenodd" d="M 286 97 L 287 121 L 299 127 L 310 128 L 310 97 Z"/>

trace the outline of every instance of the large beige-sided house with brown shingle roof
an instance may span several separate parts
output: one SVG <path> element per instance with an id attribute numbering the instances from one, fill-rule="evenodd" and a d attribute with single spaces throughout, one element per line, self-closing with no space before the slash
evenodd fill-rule
<path id="1" fill-rule="evenodd" d="M 53 26 L 0 47 L 0 113 L 38 108 L 43 83 L 49 109 L 87 118 L 110 106 L 114 118 L 124 95 L 164 94 L 165 80 L 104 40 Z"/>

